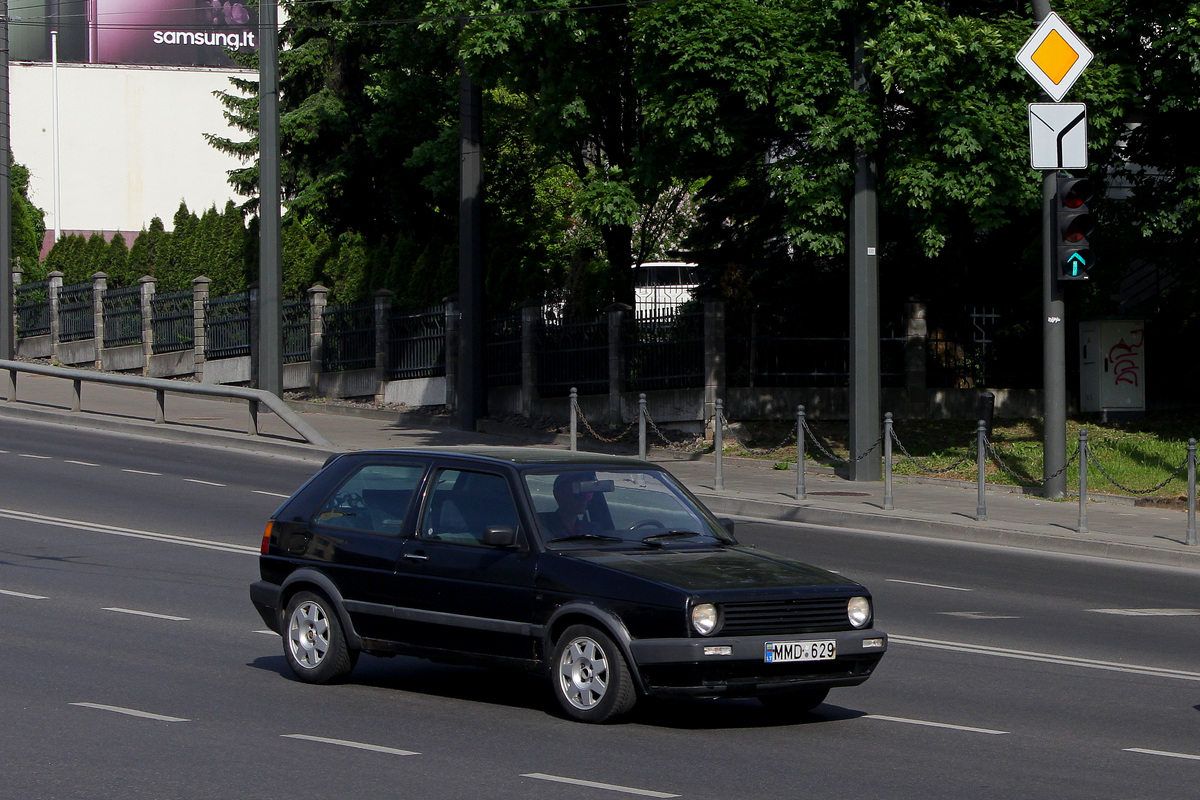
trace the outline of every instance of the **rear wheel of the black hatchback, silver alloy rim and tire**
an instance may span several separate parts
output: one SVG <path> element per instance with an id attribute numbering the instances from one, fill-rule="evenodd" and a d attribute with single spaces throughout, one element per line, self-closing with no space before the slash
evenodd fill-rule
<path id="1" fill-rule="evenodd" d="M 306 684 L 328 684 L 350 674 L 358 652 L 346 644 L 337 610 L 324 595 L 299 591 L 288 603 L 283 655 Z"/>

